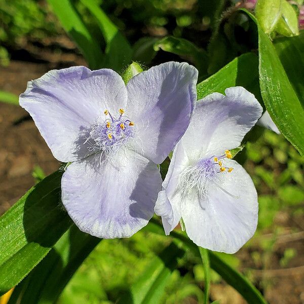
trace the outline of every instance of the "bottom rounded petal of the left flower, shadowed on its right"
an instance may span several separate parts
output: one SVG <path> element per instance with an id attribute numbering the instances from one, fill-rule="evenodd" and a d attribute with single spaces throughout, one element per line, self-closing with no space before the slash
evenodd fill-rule
<path id="1" fill-rule="evenodd" d="M 157 165 L 131 150 L 99 162 L 90 156 L 63 174 L 62 202 L 83 232 L 105 239 L 130 237 L 153 216 L 161 189 Z"/>

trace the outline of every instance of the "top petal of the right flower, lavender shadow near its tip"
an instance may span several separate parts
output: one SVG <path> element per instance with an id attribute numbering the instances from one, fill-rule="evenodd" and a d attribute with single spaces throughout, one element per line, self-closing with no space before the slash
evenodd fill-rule
<path id="1" fill-rule="evenodd" d="M 229 88 L 225 94 L 210 94 L 196 104 L 191 123 L 181 139 L 193 161 L 236 148 L 261 116 L 262 107 L 244 88 Z"/>

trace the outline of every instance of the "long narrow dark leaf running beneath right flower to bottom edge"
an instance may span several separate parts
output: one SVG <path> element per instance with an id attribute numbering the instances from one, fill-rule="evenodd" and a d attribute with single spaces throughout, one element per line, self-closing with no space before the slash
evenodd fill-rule
<path id="1" fill-rule="evenodd" d="M 150 220 L 148 225 L 145 227 L 145 230 L 164 235 L 162 224 L 155 218 Z M 170 236 L 175 238 L 178 243 L 181 242 L 187 248 L 191 249 L 198 257 L 201 257 L 197 245 L 195 245 L 184 233 L 172 231 Z M 260 292 L 246 277 L 234 270 L 217 253 L 210 250 L 208 253 L 210 267 L 216 271 L 229 285 L 234 287 L 244 297 L 248 304 L 267 304 Z"/>

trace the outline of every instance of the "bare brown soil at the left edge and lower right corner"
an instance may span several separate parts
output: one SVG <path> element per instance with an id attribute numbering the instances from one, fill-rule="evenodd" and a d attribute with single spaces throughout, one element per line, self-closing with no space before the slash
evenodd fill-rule
<path id="1" fill-rule="evenodd" d="M 84 64 L 77 54 L 64 56 L 53 56 L 50 57 L 51 61 L 47 61 L 45 59 L 48 56 L 45 55 L 40 63 L 12 60 L 8 67 L 0 66 L 0 90 L 19 95 L 25 91 L 27 81 L 41 77 L 50 69 Z M 35 183 L 32 177 L 34 166 L 40 166 L 48 175 L 58 169 L 60 164 L 52 156 L 33 121 L 28 119 L 27 112 L 19 106 L 0 103 L 0 141 L 1 215 Z M 272 304 L 304 304 L 303 219 L 303 216 L 293 218 L 288 214 L 280 214 L 277 220 L 280 226 L 285 227 L 286 234 L 277 238 L 273 250 L 265 257 L 267 263 L 253 263 L 253 250 L 264 254 L 259 242 L 250 249 L 241 249 L 237 254 L 242 271 L 247 274 L 250 269 L 250 278 Z M 294 229 L 297 232 L 294 233 Z M 295 248 L 297 254 L 287 268 L 282 268 L 279 261 L 286 248 Z M 266 269 L 261 270 L 265 265 Z M 225 284 L 213 284 L 211 297 L 222 299 L 222 304 L 245 303 L 233 288 Z"/>

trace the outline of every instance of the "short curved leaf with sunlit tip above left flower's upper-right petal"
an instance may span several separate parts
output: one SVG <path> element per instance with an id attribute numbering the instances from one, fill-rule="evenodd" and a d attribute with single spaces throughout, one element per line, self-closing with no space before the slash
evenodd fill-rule
<path id="1" fill-rule="evenodd" d="M 165 52 L 173 53 L 193 62 L 202 73 L 207 73 L 208 55 L 205 50 L 198 48 L 186 39 L 173 36 L 165 37 L 154 44 L 154 50 L 162 49 Z"/>

